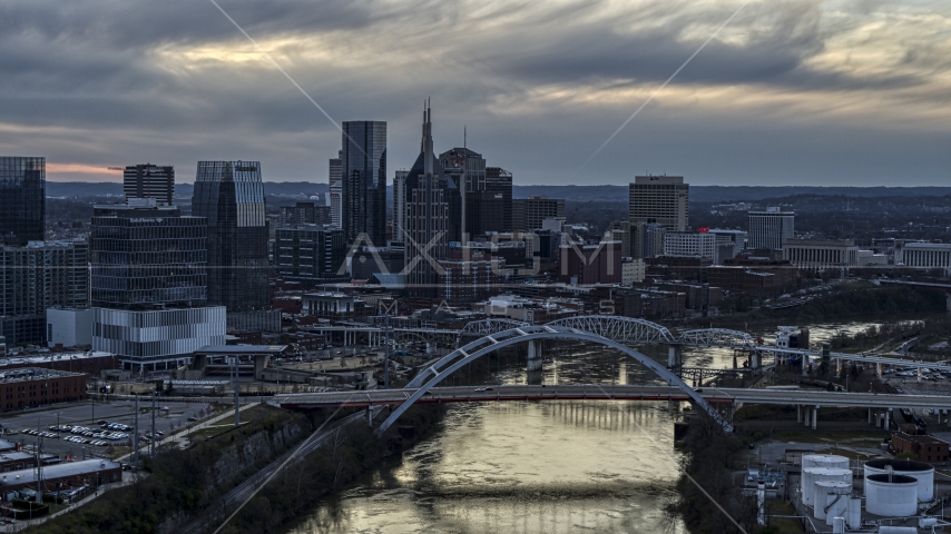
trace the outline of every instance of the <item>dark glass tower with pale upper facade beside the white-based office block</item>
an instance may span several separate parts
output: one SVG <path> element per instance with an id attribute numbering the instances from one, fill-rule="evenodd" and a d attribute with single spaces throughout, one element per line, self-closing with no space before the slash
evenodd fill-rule
<path id="1" fill-rule="evenodd" d="M 192 215 L 208 219 L 208 304 L 269 307 L 267 220 L 258 161 L 198 161 Z"/>

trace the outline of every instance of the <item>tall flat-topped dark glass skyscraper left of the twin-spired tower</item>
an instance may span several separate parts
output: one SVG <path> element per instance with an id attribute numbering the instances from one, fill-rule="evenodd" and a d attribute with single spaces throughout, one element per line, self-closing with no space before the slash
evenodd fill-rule
<path id="1" fill-rule="evenodd" d="M 342 125 L 343 230 L 347 241 L 386 246 L 386 122 Z"/>

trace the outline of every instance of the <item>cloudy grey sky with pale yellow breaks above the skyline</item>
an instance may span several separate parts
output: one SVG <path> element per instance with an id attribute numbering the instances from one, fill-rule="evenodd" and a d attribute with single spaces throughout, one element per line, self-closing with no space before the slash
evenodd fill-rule
<path id="1" fill-rule="evenodd" d="M 389 168 L 462 145 L 517 184 L 951 184 L 951 2 L 217 0 L 334 121 L 385 120 Z M 0 155 L 51 180 L 261 160 L 326 181 L 340 132 L 209 0 L 4 0 Z"/>

